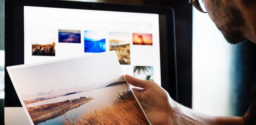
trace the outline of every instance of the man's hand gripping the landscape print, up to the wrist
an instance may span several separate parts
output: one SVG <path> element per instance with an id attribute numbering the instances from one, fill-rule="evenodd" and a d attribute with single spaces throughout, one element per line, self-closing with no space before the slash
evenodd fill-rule
<path id="1" fill-rule="evenodd" d="M 127 82 L 133 86 L 143 89 L 133 88 L 137 99 L 153 125 L 169 125 L 170 114 L 172 112 L 172 99 L 162 87 L 154 81 L 141 80 L 129 75 L 125 75 Z"/>

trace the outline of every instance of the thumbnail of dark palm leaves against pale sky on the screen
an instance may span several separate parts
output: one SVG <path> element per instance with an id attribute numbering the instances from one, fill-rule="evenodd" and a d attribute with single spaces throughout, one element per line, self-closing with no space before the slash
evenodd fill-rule
<path id="1" fill-rule="evenodd" d="M 154 81 L 153 66 L 134 66 L 133 67 L 133 75 L 136 78 Z"/>

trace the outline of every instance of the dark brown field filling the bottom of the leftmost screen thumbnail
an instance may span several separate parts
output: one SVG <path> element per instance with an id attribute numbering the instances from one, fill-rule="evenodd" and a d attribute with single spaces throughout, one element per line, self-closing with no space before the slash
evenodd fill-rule
<path id="1" fill-rule="evenodd" d="M 32 55 L 55 56 L 55 42 L 52 44 L 33 44 Z"/>

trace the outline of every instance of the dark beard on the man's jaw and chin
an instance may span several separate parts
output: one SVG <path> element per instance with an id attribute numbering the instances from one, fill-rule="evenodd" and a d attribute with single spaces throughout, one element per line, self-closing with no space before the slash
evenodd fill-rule
<path id="1" fill-rule="evenodd" d="M 220 5 L 218 8 L 220 9 L 220 7 L 223 6 Z M 220 13 L 224 14 L 221 15 Z M 245 25 L 245 20 L 240 10 L 235 7 L 223 7 L 219 12 L 215 13 L 215 15 L 219 15 L 219 19 L 224 18 L 226 20 L 225 24 L 221 26 L 216 24 L 216 26 L 229 43 L 237 44 L 247 40 L 247 38 L 244 37 L 244 33 L 241 31 L 241 27 Z"/>

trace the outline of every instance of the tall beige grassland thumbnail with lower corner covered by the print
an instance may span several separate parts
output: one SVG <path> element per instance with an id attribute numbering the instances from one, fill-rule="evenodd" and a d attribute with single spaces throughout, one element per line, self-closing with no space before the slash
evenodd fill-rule
<path id="1" fill-rule="evenodd" d="M 115 50 L 121 65 L 130 65 L 130 33 L 109 33 L 109 50 Z"/>

